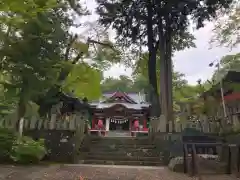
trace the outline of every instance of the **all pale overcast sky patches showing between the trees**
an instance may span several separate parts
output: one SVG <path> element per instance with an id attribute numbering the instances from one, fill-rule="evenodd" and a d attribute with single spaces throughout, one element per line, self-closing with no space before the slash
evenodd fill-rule
<path id="1" fill-rule="evenodd" d="M 87 18 L 82 18 L 81 21 L 95 21 L 98 16 L 94 13 L 96 3 L 94 0 L 82 0 L 87 8 L 92 12 L 92 15 Z M 212 36 L 212 23 L 206 23 L 204 28 L 199 30 L 193 30 L 193 34 L 196 38 L 196 48 L 185 49 L 180 52 L 176 52 L 173 57 L 174 67 L 176 71 L 185 74 L 185 78 L 189 84 L 196 84 L 198 79 L 207 80 L 211 77 L 214 69 L 208 67 L 208 64 L 216 59 L 220 59 L 227 54 L 233 54 L 240 52 L 240 47 L 233 50 L 228 48 L 213 47 L 209 49 L 209 40 Z M 74 32 L 80 33 L 82 29 L 74 29 Z M 123 65 L 115 65 L 108 71 L 104 72 L 104 76 L 118 77 L 119 75 L 131 75 L 132 70 L 126 68 Z"/>

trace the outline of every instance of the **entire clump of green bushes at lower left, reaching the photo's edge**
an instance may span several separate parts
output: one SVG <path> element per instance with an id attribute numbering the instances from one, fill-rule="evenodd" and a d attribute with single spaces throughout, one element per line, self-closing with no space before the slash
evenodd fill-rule
<path id="1" fill-rule="evenodd" d="M 18 137 L 6 128 L 0 128 L 0 162 L 17 164 L 39 163 L 47 154 L 44 140 L 35 141 L 30 137 Z"/>

